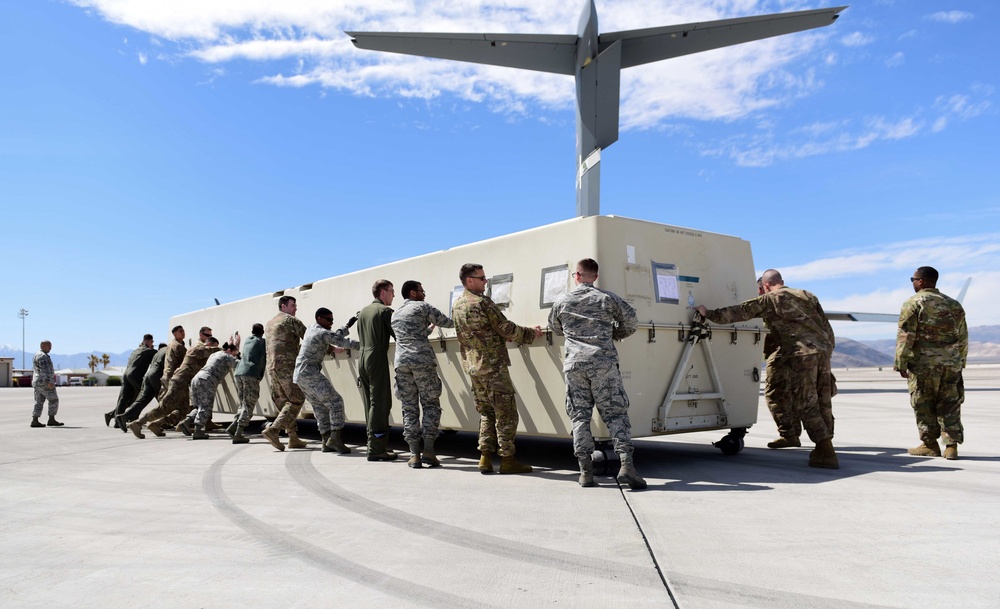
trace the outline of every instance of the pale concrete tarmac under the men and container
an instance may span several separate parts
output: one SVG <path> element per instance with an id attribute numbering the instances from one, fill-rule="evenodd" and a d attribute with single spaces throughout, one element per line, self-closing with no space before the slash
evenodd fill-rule
<path id="1" fill-rule="evenodd" d="M 723 431 L 638 440 L 644 491 L 580 488 L 568 439 L 519 438 L 535 473 L 485 476 L 456 433 L 414 470 L 138 440 L 104 426 L 116 388 L 60 388 L 65 427 L 31 429 L 32 391 L 0 389 L 0 607 L 1000 606 L 1000 367 L 966 371 L 957 461 L 906 455 L 896 373 L 835 373 L 839 470 L 808 467 L 805 438 L 768 450 L 761 400 L 736 456 Z"/>

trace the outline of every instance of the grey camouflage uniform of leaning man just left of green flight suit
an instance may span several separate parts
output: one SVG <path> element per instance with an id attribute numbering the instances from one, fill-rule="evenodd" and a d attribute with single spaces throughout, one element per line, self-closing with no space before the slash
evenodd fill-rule
<path id="1" fill-rule="evenodd" d="M 327 353 L 333 355 L 335 347 L 358 349 L 358 341 L 347 338 L 349 333 L 346 327 L 334 331 L 313 324 L 306 330 L 299 356 L 295 358 L 292 380 L 312 404 L 321 434 L 344 428 L 344 398 L 323 374 L 323 358 Z"/>

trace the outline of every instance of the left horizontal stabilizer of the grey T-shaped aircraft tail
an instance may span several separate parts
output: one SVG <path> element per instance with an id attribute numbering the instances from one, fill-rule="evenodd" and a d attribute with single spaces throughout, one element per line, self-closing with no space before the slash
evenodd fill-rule
<path id="1" fill-rule="evenodd" d="M 359 49 L 573 75 L 573 35 L 346 32 Z"/>

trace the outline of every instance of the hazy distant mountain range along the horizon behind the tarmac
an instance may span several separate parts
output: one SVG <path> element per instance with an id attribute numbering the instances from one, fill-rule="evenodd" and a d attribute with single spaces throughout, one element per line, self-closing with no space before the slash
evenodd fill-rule
<path id="1" fill-rule="evenodd" d="M 37 350 L 36 350 L 37 351 Z M 25 353 L 25 363 L 31 367 L 31 358 L 36 351 Z M 104 351 L 94 351 L 100 357 Z M 111 366 L 124 366 L 132 350 L 121 353 L 108 353 Z M 56 369 L 86 368 L 90 361 L 90 353 L 73 353 L 71 355 L 49 354 Z M 851 340 L 837 338 L 837 349 L 833 352 L 834 368 L 875 368 L 878 366 L 892 367 L 896 356 L 896 341 L 882 340 Z M 13 357 L 14 367 L 21 367 L 21 350 L 13 345 L 0 345 L 0 357 Z M 969 328 L 969 363 L 985 364 L 1000 362 L 1000 326 L 978 326 Z"/>

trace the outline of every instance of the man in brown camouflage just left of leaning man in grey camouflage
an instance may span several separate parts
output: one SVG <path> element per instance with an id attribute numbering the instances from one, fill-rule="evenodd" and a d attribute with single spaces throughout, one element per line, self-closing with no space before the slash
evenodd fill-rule
<path id="1" fill-rule="evenodd" d="M 271 400 L 280 412 L 274 422 L 264 429 L 264 438 L 278 450 L 285 450 L 278 435 L 284 429 L 288 433 L 289 448 L 305 448 L 299 439 L 295 420 L 299 417 L 306 396 L 292 381 L 295 372 L 295 358 L 299 355 L 299 341 L 306 334 L 306 325 L 295 312 L 298 303 L 294 296 L 278 299 L 278 314 L 264 326 L 264 340 L 267 343 L 267 378 L 271 381 Z"/>

